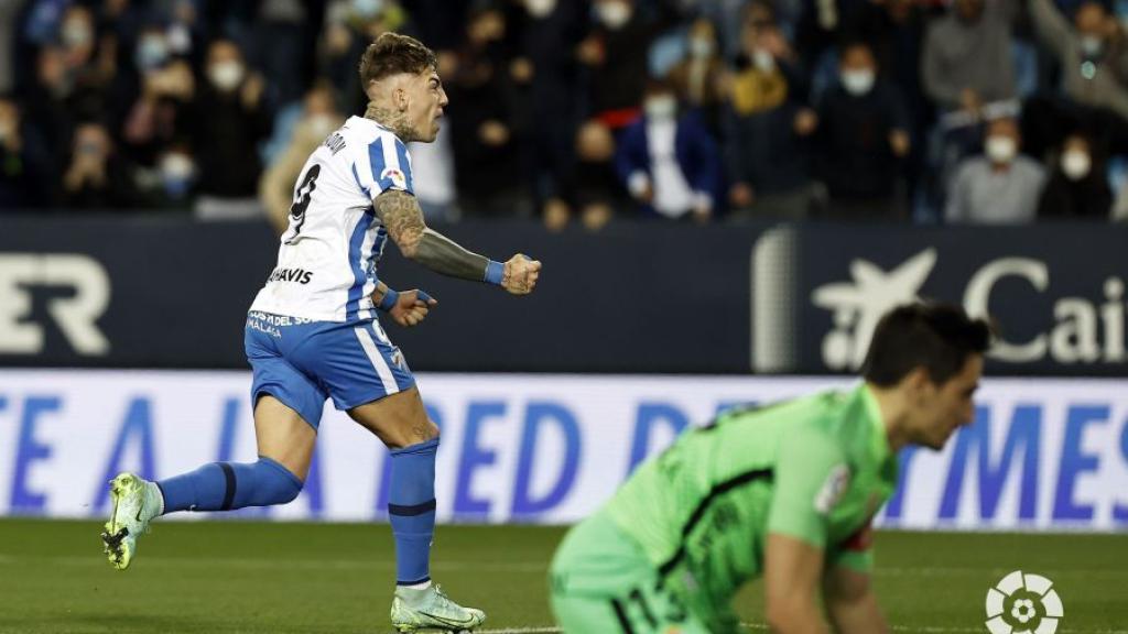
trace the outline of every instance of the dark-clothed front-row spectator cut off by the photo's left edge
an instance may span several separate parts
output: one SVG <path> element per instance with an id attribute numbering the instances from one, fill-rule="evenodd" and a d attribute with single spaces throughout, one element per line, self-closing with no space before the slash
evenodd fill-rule
<path id="1" fill-rule="evenodd" d="M 25 122 L 19 105 L 0 97 L 0 210 L 43 206 L 55 190 L 42 140 Z M 46 199 L 46 200 L 45 200 Z"/>

